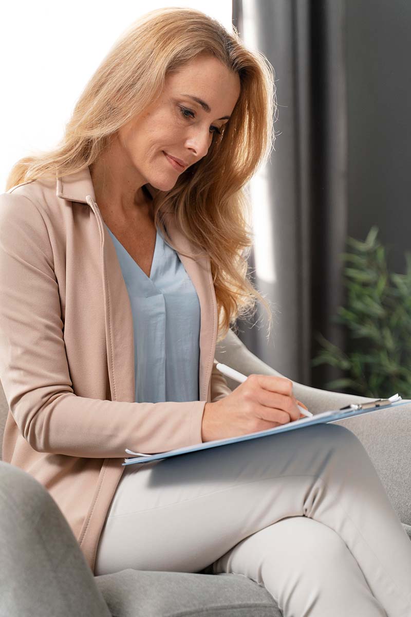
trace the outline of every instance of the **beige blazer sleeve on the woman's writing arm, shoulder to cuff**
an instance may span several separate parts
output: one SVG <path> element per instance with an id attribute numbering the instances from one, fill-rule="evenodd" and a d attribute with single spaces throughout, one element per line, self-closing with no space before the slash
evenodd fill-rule
<path id="1" fill-rule="evenodd" d="M 21 194 L 0 195 L 0 298 L 0 379 L 34 450 L 124 458 L 126 448 L 156 453 L 201 443 L 206 401 L 137 403 L 73 392 L 51 241 L 41 208 Z"/>

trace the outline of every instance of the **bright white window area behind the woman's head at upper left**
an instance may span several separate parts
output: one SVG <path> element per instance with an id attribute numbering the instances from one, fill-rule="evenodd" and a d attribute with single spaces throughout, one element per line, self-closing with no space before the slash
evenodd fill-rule
<path id="1" fill-rule="evenodd" d="M 7 2 L 2 8 L 0 193 L 12 165 L 54 147 L 76 100 L 115 40 L 140 15 L 192 7 L 231 30 L 231 0 Z"/>

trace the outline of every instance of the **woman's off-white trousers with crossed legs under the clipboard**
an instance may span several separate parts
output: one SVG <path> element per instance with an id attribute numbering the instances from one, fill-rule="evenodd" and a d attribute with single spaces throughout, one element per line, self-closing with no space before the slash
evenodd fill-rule
<path id="1" fill-rule="evenodd" d="M 94 573 L 235 573 L 284 617 L 410 617 L 411 542 L 340 424 L 124 468 Z"/>

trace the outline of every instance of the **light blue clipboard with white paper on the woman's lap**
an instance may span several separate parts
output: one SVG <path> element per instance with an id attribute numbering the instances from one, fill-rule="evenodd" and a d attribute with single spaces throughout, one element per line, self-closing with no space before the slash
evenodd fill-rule
<path id="1" fill-rule="evenodd" d="M 389 399 L 377 399 L 362 404 L 351 404 L 341 407 L 340 409 L 331 410 L 329 412 L 314 414 L 311 418 L 300 418 L 287 424 L 281 424 L 274 428 L 266 429 L 266 431 L 257 431 L 256 433 L 247 433 L 239 437 L 228 437 L 226 439 L 215 439 L 214 441 L 206 441 L 201 444 L 187 445 L 183 448 L 177 448 L 176 450 L 169 450 L 168 452 L 160 452 L 157 454 L 144 454 L 140 452 L 133 452 L 126 448 L 128 454 L 134 455 L 134 457 L 124 458 L 125 465 L 135 465 L 139 463 L 151 463 L 152 461 L 163 460 L 165 458 L 177 457 L 189 452 L 197 452 L 198 450 L 206 450 L 208 448 L 217 448 L 223 445 L 235 444 L 239 441 L 248 441 L 248 439 L 263 439 L 267 435 L 276 435 L 279 433 L 286 433 L 287 431 L 296 431 L 306 426 L 313 426 L 314 424 L 332 423 L 336 420 L 343 420 L 344 418 L 352 418 L 353 416 L 362 415 L 363 413 L 376 412 L 381 408 L 399 407 L 411 402 L 411 399 L 402 399 L 397 394 L 394 394 Z"/>

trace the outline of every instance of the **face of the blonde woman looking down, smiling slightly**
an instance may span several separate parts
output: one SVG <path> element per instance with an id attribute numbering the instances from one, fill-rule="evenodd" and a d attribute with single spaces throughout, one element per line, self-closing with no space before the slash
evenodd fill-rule
<path id="1" fill-rule="evenodd" d="M 237 73 L 213 56 L 197 57 L 168 75 L 158 100 L 118 131 L 133 180 L 161 191 L 173 188 L 179 175 L 207 154 L 213 133 L 228 122 L 239 94 Z"/>

